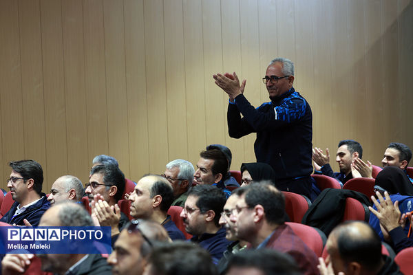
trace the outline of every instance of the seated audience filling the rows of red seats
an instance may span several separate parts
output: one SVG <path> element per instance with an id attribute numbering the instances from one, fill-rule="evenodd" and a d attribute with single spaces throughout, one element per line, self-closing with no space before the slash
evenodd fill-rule
<path id="1" fill-rule="evenodd" d="M 39 163 L 10 162 L 2 225 L 110 226 L 113 251 L 6 254 L 2 274 L 401 274 L 413 246 L 412 153 L 390 144 L 383 170 L 361 157 L 358 142 L 341 141 L 334 173 L 328 149 L 314 148 L 310 198 L 279 191 L 268 164 L 230 170 L 220 144 L 200 153 L 196 170 L 176 159 L 137 183 L 98 155 L 85 188 L 64 175 L 47 195 Z"/>

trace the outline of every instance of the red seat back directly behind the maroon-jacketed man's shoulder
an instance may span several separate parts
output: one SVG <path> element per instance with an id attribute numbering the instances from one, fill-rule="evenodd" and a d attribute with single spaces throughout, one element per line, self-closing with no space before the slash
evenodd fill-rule
<path id="1" fill-rule="evenodd" d="M 314 251 L 317 257 L 321 257 L 327 239 L 323 232 L 317 231 L 315 228 L 301 223 L 286 222 L 286 224 L 293 229 L 294 233 L 299 236 L 304 243 L 306 243 L 308 248 Z"/>

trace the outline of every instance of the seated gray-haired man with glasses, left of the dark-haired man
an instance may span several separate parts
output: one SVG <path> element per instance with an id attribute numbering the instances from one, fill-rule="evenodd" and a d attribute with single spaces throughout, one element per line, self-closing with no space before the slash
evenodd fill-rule
<path id="1" fill-rule="evenodd" d="M 167 170 L 162 175 L 173 188 L 173 206 L 184 207 L 188 197 L 188 189 L 192 186 L 193 165 L 184 159 L 175 159 L 167 164 Z"/>

